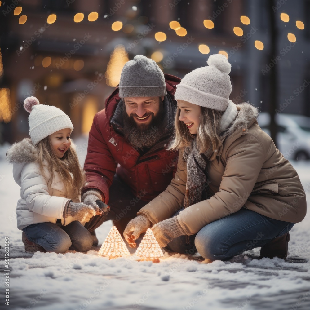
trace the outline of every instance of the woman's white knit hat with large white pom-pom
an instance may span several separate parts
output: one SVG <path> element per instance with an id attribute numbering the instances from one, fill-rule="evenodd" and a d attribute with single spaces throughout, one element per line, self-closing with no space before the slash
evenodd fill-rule
<path id="1" fill-rule="evenodd" d="M 210 109 L 225 111 L 232 92 L 231 64 L 222 54 L 210 55 L 207 67 L 184 76 L 175 91 L 175 100 L 184 100 Z"/>

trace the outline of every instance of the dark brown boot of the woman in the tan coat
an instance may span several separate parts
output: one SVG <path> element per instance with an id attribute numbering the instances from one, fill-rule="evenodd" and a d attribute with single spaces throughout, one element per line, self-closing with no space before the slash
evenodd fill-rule
<path id="1" fill-rule="evenodd" d="M 270 259 L 273 259 L 274 257 L 286 259 L 287 244 L 289 241 L 290 234 L 288 232 L 280 237 L 272 239 L 260 249 L 259 259 L 262 259 L 263 257 L 268 257 Z"/>

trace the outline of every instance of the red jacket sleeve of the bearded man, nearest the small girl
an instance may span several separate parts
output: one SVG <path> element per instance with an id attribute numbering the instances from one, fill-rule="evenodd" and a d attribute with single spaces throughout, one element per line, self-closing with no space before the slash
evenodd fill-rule
<path id="1" fill-rule="evenodd" d="M 104 113 L 103 110 L 95 115 L 89 132 L 87 155 L 84 163 L 86 184 L 82 189 L 82 193 L 95 188 L 104 196 L 102 197 L 104 202 L 108 203 L 109 188 L 113 181 L 117 163 L 104 139 L 103 130 L 99 128 L 99 122 L 107 122 Z"/>

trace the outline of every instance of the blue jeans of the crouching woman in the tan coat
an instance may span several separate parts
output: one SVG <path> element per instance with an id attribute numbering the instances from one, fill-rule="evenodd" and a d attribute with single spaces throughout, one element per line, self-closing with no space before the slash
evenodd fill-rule
<path id="1" fill-rule="evenodd" d="M 289 232 L 294 223 L 271 219 L 241 208 L 236 213 L 201 228 L 196 235 L 172 240 L 167 249 L 178 253 L 195 253 L 210 260 L 228 260 L 244 251 L 262 247 Z"/>

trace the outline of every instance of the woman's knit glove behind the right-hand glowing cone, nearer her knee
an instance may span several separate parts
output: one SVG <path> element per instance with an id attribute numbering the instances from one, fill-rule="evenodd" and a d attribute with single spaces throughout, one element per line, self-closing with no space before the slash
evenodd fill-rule
<path id="1" fill-rule="evenodd" d="M 186 235 L 176 216 L 155 224 L 152 231 L 160 247 L 166 246 L 174 238 Z"/>

